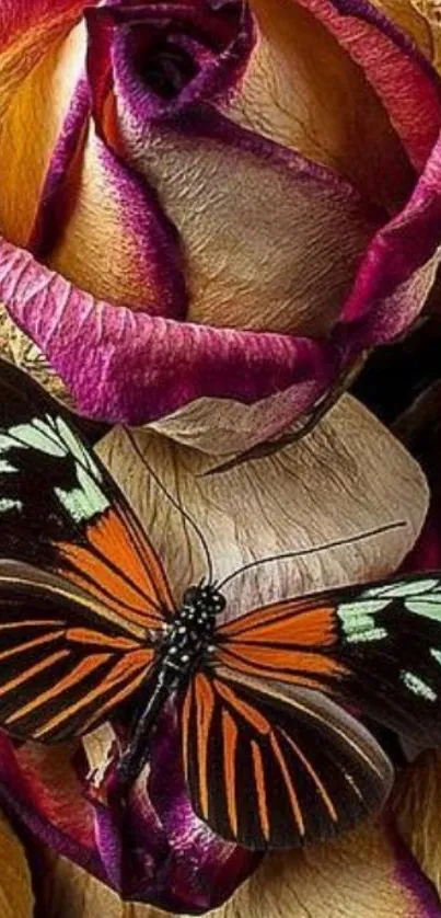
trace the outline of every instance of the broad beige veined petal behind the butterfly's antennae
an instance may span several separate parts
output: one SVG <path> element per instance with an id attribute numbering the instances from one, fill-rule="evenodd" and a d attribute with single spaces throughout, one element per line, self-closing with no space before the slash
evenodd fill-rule
<path id="1" fill-rule="evenodd" d="M 132 441 L 115 429 L 101 452 L 143 520 L 176 597 L 207 574 L 207 559 L 194 527 L 172 501 L 202 530 L 218 578 L 268 555 L 312 550 L 232 581 L 236 612 L 257 597 L 268 601 L 391 572 L 411 548 L 426 515 L 427 486 L 419 467 L 348 395 L 301 443 L 220 474 L 205 474 L 216 464 L 212 457 L 146 431 L 130 436 Z M 397 523 L 404 526 L 365 535 Z M 353 538 L 359 540 L 315 551 Z"/>

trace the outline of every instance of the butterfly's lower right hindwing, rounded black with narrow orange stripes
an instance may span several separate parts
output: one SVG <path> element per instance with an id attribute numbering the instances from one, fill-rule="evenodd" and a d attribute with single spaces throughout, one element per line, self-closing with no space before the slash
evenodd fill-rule
<path id="1" fill-rule="evenodd" d="M 318 692 L 198 673 L 182 707 L 192 804 L 218 834 L 254 849 L 333 837 L 378 810 L 392 769 L 375 739 Z"/>

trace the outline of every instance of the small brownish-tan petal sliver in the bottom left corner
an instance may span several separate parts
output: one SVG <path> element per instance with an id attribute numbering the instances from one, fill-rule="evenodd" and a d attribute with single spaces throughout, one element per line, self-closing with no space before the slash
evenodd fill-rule
<path id="1" fill-rule="evenodd" d="M 1 918 L 32 918 L 34 896 L 27 861 L 21 842 L 1 815 L 0 863 Z"/>

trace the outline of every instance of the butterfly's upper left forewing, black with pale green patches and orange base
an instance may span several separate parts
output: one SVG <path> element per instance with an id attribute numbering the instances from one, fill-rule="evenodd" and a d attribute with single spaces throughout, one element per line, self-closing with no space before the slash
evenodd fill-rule
<path id="1" fill-rule="evenodd" d="M 5 362 L 0 405 L 0 555 L 158 627 L 174 608 L 160 559 L 70 413 Z"/>

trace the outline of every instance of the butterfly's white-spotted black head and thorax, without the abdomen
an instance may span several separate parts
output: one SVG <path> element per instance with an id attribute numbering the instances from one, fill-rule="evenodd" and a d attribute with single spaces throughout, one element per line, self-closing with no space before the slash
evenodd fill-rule
<path id="1" fill-rule="evenodd" d="M 159 646 L 159 666 L 166 682 L 178 684 L 200 663 L 224 607 L 224 597 L 211 584 L 186 589 Z"/>

